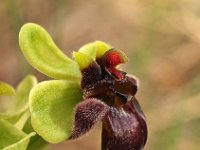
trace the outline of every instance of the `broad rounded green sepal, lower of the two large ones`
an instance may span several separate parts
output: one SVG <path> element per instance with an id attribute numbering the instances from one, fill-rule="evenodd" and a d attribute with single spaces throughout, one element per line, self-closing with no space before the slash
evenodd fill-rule
<path id="1" fill-rule="evenodd" d="M 73 111 L 82 100 L 77 82 L 45 81 L 30 93 L 29 108 L 33 129 L 50 143 L 69 138 L 73 127 Z"/>

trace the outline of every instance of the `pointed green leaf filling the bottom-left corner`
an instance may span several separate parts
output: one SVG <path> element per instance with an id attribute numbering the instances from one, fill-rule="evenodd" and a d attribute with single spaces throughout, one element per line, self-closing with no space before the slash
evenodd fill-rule
<path id="1" fill-rule="evenodd" d="M 25 150 L 30 137 L 35 135 L 33 132 L 27 135 L 3 119 L 0 119 L 0 133 L 0 149 L 4 150 Z"/>

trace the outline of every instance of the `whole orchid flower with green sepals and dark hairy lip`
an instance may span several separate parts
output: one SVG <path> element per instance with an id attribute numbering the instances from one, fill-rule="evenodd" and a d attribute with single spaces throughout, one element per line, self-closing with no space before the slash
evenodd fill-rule
<path id="1" fill-rule="evenodd" d="M 19 44 L 28 62 L 56 79 L 30 92 L 33 129 L 49 143 L 76 139 L 102 121 L 102 150 L 141 150 L 147 140 L 144 114 L 135 98 L 138 81 L 117 66 L 121 50 L 95 41 L 68 58 L 41 26 L 25 24 Z"/>

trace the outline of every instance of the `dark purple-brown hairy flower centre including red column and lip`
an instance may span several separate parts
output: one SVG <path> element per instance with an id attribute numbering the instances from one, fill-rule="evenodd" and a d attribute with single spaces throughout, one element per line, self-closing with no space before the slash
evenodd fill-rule
<path id="1" fill-rule="evenodd" d="M 111 49 L 82 70 L 83 102 L 76 107 L 71 138 L 102 121 L 102 150 L 142 150 L 147 141 L 144 113 L 135 98 L 137 80 L 116 69 L 126 55 Z"/>

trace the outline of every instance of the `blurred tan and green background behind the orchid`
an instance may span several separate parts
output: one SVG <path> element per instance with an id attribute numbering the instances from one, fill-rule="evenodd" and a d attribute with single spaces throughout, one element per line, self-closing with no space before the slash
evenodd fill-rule
<path id="1" fill-rule="evenodd" d="M 124 49 L 124 70 L 140 79 L 145 150 L 200 149 L 199 0 L 1 0 L 0 80 L 13 86 L 30 73 L 47 79 L 20 52 L 18 32 L 26 22 L 45 27 L 68 56 L 95 40 Z M 101 124 L 52 149 L 100 150 L 100 137 Z"/>

